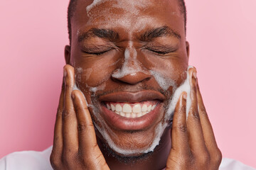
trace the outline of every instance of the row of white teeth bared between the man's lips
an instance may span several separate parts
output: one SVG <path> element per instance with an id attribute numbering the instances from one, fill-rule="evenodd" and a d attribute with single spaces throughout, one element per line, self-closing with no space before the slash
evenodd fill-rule
<path id="1" fill-rule="evenodd" d="M 153 106 L 146 106 L 146 104 L 143 104 L 141 106 L 137 103 L 132 107 L 129 103 L 124 103 L 124 106 L 121 106 L 120 104 L 114 106 L 114 104 L 107 103 L 107 108 L 125 118 L 139 118 L 154 110 L 156 104 Z"/>

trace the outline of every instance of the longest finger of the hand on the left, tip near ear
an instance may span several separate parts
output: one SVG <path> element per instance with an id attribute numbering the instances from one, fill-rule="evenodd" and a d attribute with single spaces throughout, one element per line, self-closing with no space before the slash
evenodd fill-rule
<path id="1" fill-rule="evenodd" d="M 63 110 L 63 152 L 76 152 L 78 149 L 77 118 L 71 98 L 73 86 L 75 84 L 74 68 L 65 65 L 65 93 Z"/>

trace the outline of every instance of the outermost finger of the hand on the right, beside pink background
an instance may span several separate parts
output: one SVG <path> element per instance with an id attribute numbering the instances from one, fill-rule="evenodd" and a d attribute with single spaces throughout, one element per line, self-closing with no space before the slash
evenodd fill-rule
<path id="1" fill-rule="evenodd" d="M 208 114 L 206 113 L 206 108 L 203 104 L 203 98 L 201 96 L 201 92 L 197 83 L 196 86 L 197 89 L 197 98 L 198 98 L 198 111 L 200 115 L 201 125 L 203 128 L 203 137 L 206 143 L 206 147 L 209 151 L 209 154 L 211 157 L 214 157 L 215 159 L 221 160 L 221 152 L 220 149 L 218 149 L 217 142 L 215 140 L 214 132 L 212 125 L 210 124 L 210 120 L 208 118 Z"/>

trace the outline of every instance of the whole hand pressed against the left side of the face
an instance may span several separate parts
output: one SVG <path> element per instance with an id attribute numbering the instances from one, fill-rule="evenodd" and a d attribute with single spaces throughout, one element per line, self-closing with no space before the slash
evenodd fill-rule
<path id="1" fill-rule="evenodd" d="M 65 65 L 63 71 L 50 164 L 61 170 L 110 169 L 97 145 L 85 98 L 80 91 L 73 91 L 74 68 Z"/>

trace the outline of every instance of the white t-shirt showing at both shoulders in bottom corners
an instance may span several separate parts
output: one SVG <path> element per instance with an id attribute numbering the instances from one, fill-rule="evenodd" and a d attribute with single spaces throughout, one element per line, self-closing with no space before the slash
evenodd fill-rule
<path id="1" fill-rule="evenodd" d="M 52 147 L 43 152 L 14 152 L 0 159 L 0 170 L 52 170 L 50 153 Z M 219 170 L 255 170 L 233 159 L 223 158 Z"/>

